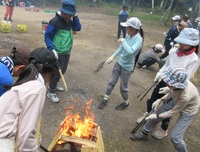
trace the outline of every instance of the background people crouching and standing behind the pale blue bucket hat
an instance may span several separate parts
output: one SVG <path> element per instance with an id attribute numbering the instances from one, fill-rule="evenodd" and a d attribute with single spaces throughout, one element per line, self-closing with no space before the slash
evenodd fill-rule
<path id="1" fill-rule="evenodd" d="M 176 41 L 174 41 L 174 39 L 180 34 L 180 32 L 184 28 L 193 28 L 193 25 L 189 20 L 189 16 L 187 14 L 184 14 L 182 19 L 179 15 L 173 16 L 171 28 L 167 33 L 164 33 L 164 48 L 161 44 L 156 44 L 155 46 L 153 46 L 153 48 L 159 45 L 160 48 L 162 48 L 162 51 L 156 51 L 152 48 L 141 53 L 138 62 L 139 68 L 141 70 L 150 72 L 150 66 L 152 66 L 156 62 L 161 68 L 165 62 L 165 58 L 169 55 L 170 49 L 173 47 L 178 47 L 178 44 L 176 43 Z"/>

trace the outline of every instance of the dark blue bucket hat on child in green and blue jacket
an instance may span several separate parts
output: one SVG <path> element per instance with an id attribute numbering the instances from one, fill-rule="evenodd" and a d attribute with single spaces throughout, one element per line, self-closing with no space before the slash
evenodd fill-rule
<path id="1" fill-rule="evenodd" d="M 76 14 L 76 3 L 72 0 L 64 0 L 62 3 L 62 7 L 60 8 L 60 11 L 69 14 L 72 16 L 75 16 Z"/>

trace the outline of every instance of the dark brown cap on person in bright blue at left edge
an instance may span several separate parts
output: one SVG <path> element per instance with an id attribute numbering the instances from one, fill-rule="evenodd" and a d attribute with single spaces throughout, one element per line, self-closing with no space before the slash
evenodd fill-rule
<path id="1" fill-rule="evenodd" d="M 29 64 L 29 55 L 30 55 L 30 49 L 24 46 L 16 46 L 13 47 L 10 57 L 12 58 L 12 61 L 14 65 L 28 65 Z"/>

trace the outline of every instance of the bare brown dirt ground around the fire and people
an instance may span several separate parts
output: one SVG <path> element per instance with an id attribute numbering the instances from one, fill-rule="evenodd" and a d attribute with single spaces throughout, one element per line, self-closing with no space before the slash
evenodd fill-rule
<path id="1" fill-rule="evenodd" d="M 58 10 L 59 8 L 45 8 Z M 153 81 L 158 65 L 151 68 L 151 72 L 140 71 L 136 66 L 129 83 L 130 106 L 124 111 L 115 110 L 115 106 L 122 102 L 117 84 L 113 90 L 109 103 L 104 110 L 97 108 L 102 95 L 106 89 L 107 82 L 111 76 L 114 62 L 106 65 L 99 73 L 94 74 L 93 70 L 98 63 L 106 60 L 118 47 L 117 42 L 117 17 L 103 15 L 100 8 L 79 8 L 79 18 L 82 23 L 82 30 L 74 37 L 74 46 L 67 73 L 64 77 L 67 81 L 68 92 L 59 92 L 59 103 L 52 103 L 46 99 L 42 114 L 41 134 L 42 145 L 48 147 L 52 141 L 59 124 L 65 117 L 65 107 L 72 105 L 73 99 L 78 99 L 78 107 L 89 99 L 93 100 L 91 111 L 94 112 L 95 122 L 102 130 L 105 152 L 173 152 L 175 151 L 169 136 L 162 140 L 156 140 L 149 136 L 147 142 L 133 142 L 130 140 L 130 132 L 136 126 L 135 120 L 145 112 L 145 103 L 150 93 L 138 101 L 137 96 Z M 3 18 L 5 7 L 0 6 L 0 14 Z M 97 13 L 95 13 L 97 12 Z M 31 50 L 37 47 L 45 47 L 42 34 L 42 21 L 49 21 L 55 14 L 40 12 L 28 12 L 24 8 L 15 7 L 12 31 L 0 33 L 0 56 L 9 53 L 9 50 L 16 45 L 30 47 Z M 142 21 L 145 31 L 143 51 L 156 43 L 163 43 L 163 32 L 166 27 L 152 26 L 151 23 Z M 26 33 L 17 32 L 17 24 L 26 24 Z M 199 88 L 197 78 L 193 82 Z M 185 140 L 190 152 L 197 152 L 200 149 L 199 121 L 200 114 L 195 116 L 185 134 Z M 170 124 L 169 133 L 176 117 Z M 142 127 L 141 127 L 142 129 Z M 42 151 L 42 150 L 41 150 Z"/>

